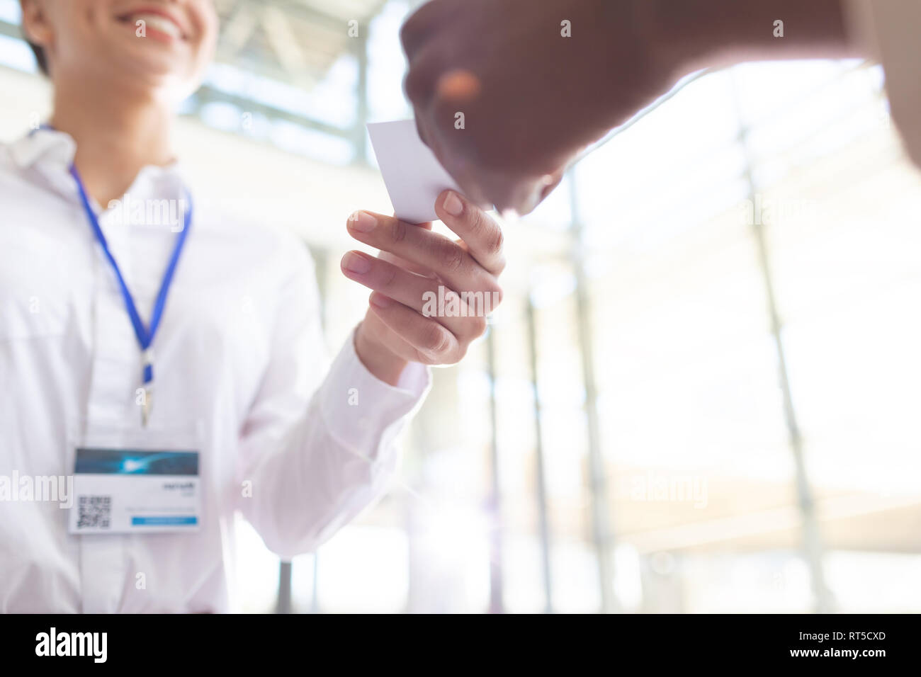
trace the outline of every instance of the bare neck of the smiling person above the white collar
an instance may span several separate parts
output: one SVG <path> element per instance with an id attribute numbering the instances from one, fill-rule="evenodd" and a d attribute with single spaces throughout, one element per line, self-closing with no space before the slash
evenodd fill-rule
<path id="1" fill-rule="evenodd" d="M 146 165 L 167 165 L 172 113 L 169 105 L 143 97 L 87 91 L 55 83 L 52 127 L 76 141 L 76 168 L 103 208 L 122 197 Z"/>

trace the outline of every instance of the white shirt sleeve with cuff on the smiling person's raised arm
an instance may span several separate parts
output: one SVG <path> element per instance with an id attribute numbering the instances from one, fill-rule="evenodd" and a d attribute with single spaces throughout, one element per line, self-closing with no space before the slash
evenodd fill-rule
<path id="1" fill-rule="evenodd" d="M 397 387 L 380 381 L 358 358 L 354 332 L 327 371 L 320 296 L 297 249 L 238 457 L 239 509 L 283 558 L 314 550 L 384 493 L 398 467 L 396 438 L 431 383 L 415 363 Z"/>

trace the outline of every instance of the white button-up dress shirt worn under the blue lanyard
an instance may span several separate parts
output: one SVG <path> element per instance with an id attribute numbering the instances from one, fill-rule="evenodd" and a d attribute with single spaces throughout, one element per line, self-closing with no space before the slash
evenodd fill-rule
<path id="1" fill-rule="evenodd" d="M 68 172 L 74 152 L 67 134 L 43 129 L 0 146 L 7 478 L 70 475 L 87 430 L 141 429 L 140 349 Z M 394 472 L 394 438 L 428 370 L 410 365 L 391 387 L 351 338 L 329 367 L 305 246 L 191 193 L 192 230 L 154 341 L 149 426 L 200 426 L 199 530 L 71 535 L 57 502 L 0 501 L 0 612 L 227 611 L 236 511 L 287 558 L 329 538 Z M 147 167 L 127 195 L 178 201 L 180 170 Z M 99 216 L 147 322 L 176 235 L 117 220 Z"/>

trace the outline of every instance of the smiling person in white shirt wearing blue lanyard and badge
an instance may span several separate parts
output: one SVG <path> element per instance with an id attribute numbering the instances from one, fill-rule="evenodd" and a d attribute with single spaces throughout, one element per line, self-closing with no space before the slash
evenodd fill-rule
<path id="1" fill-rule="evenodd" d="M 344 256 L 374 293 L 327 369 L 304 246 L 197 200 L 172 149 L 212 2 L 22 10 L 54 102 L 0 146 L 0 473 L 73 475 L 76 500 L 0 502 L 0 612 L 225 611 L 238 510 L 290 557 L 380 495 L 426 365 L 484 332 L 427 317 L 423 295 L 495 293 L 497 226 L 454 193 L 436 211 L 458 241 L 350 216 L 383 253 Z M 181 223 L 126 216 L 129 195 Z"/>

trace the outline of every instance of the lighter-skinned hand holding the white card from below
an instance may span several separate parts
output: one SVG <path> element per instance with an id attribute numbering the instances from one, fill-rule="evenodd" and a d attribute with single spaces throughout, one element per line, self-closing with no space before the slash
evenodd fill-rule
<path id="1" fill-rule="evenodd" d="M 347 223 L 353 238 L 380 251 L 377 257 L 348 251 L 342 261 L 346 277 L 374 290 L 356 331 L 356 353 L 368 371 L 391 385 L 409 362 L 460 360 L 502 300 L 498 276 L 505 258 L 498 224 L 451 190 L 437 195 L 431 208 L 459 239 L 432 232 L 430 222 L 412 225 L 366 211 Z"/>

